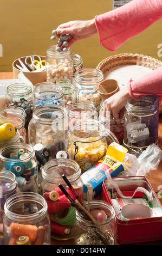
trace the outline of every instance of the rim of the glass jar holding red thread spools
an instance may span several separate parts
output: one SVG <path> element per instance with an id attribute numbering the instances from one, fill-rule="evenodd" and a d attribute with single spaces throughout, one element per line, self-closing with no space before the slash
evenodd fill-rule
<path id="1" fill-rule="evenodd" d="M 80 178 L 81 169 L 79 167 L 79 164 L 71 159 L 52 159 L 48 161 L 47 163 L 44 164 L 42 168 L 42 178 L 51 184 L 58 185 L 61 183 L 62 185 L 67 185 L 61 177 L 61 166 L 65 168 L 73 168 L 73 170 L 75 171 L 72 175 L 67 176 L 70 183 L 73 184 L 73 182 Z M 59 177 L 58 175 L 53 176 L 53 169 L 59 172 Z"/>

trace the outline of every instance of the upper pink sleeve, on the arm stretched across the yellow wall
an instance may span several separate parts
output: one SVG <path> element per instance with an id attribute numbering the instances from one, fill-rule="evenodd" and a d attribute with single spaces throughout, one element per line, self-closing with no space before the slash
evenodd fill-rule
<path id="1" fill-rule="evenodd" d="M 133 0 L 95 17 L 100 45 L 115 51 L 125 41 L 162 18 L 161 0 Z"/>

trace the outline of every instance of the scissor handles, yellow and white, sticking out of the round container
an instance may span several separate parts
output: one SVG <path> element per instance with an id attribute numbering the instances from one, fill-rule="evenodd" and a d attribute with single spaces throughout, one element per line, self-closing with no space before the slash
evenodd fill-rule
<path id="1" fill-rule="evenodd" d="M 25 58 L 25 64 L 29 66 L 33 71 L 45 66 L 45 60 L 41 60 L 40 56 L 33 55 Z"/>

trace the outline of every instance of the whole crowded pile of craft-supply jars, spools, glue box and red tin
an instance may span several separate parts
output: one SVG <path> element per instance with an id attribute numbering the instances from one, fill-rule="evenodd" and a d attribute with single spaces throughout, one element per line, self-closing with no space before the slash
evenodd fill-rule
<path id="1" fill-rule="evenodd" d="M 52 33 L 54 42 L 56 29 Z M 116 245 L 127 239 L 122 221 L 138 221 L 140 233 L 146 219 L 151 227 L 162 216 L 144 181 L 162 157 L 157 95 L 128 99 L 121 119 L 103 115 L 105 97 L 115 93 L 112 80 L 109 88 L 100 69 L 84 68 L 67 47 L 69 38 L 60 35 L 46 60 L 37 54 L 19 58 L 21 79 L 23 72 L 46 71 L 46 81 L 7 87 L 0 109 L 1 245 L 51 245 L 51 239 Z M 139 240 L 145 239 L 153 237 L 142 232 Z M 137 240 L 129 234 L 125 242 Z"/>

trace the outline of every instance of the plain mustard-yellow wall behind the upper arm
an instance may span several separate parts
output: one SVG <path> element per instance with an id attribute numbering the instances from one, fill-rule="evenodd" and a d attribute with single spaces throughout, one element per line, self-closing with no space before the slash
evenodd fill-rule
<path id="1" fill-rule="evenodd" d="M 95 15 L 112 10 L 113 0 L 1 0 L 0 44 L 3 56 L 0 57 L 0 71 L 12 71 L 15 59 L 40 54 L 53 42 L 51 31 L 61 23 L 70 20 L 89 20 Z M 162 44 L 162 20 L 127 41 L 115 52 L 109 52 L 99 45 L 98 35 L 77 41 L 72 53 L 82 57 L 83 65 L 94 68 L 101 60 L 119 53 L 140 53 L 162 60 L 158 56 L 158 45 Z M 162 51 L 161 51 L 162 52 Z"/>

